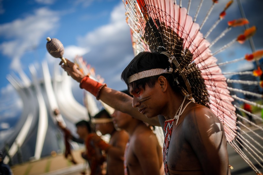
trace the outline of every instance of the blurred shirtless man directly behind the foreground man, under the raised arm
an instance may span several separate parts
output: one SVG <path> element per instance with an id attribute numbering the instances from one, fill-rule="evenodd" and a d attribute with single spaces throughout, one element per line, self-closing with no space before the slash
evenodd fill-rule
<path id="1" fill-rule="evenodd" d="M 125 129 L 130 136 L 124 154 L 125 174 L 164 174 L 162 150 L 153 131 L 143 121 L 118 110 L 112 118 L 116 127 Z"/>

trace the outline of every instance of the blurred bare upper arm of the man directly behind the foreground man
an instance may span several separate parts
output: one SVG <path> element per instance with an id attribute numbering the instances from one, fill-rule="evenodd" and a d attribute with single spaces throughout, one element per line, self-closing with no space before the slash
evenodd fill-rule
<path id="1" fill-rule="evenodd" d="M 156 151 L 156 140 L 153 137 L 137 136 L 133 147 L 143 174 L 159 175 L 160 163 L 158 153 Z"/>

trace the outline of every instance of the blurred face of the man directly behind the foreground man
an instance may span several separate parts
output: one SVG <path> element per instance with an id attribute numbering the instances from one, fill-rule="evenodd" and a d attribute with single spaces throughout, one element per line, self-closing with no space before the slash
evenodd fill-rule
<path id="1" fill-rule="evenodd" d="M 132 117 L 129 114 L 117 110 L 115 110 L 111 116 L 115 127 L 121 129 L 126 129 L 129 126 L 129 122 L 132 120 Z"/>

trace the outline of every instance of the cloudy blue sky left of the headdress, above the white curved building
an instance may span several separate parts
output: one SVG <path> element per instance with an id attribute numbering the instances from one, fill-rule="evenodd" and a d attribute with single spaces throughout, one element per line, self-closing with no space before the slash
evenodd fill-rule
<path id="1" fill-rule="evenodd" d="M 46 60 L 51 72 L 54 65 L 58 66 L 60 59 L 54 59 L 46 51 L 48 36 L 62 41 L 64 56 L 71 60 L 75 55 L 85 55 L 90 50 L 104 53 L 99 57 L 86 55 L 84 59 L 95 67 L 97 73 L 109 75 L 109 86 L 124 89 L 125 84 L 117 78 L 117 74 L 133 58 L 124 13 L 123 2 L 116 0 L 0 0 L 0 130 L 12 127 L 23 107 L 18 94 L 6 78 L 7 74 L 18 76 L 18 72 L 23 70 L 30 79 L 30 64 L 38 69 L 41 68 L 41 62 Z M 112 54 L 119 49 L 122 50 L 119 54 Z M 120 61 L 110 61 L 108 55 L 111 58 L 119 55 Z M 111 62 L 107 70 L 100 66 L 103 60 Z M 107 63 L 105 65 L 109 65 Z M 74 95 L 82 102 L 83 93 L 77 84 L 73 86 Z"/>

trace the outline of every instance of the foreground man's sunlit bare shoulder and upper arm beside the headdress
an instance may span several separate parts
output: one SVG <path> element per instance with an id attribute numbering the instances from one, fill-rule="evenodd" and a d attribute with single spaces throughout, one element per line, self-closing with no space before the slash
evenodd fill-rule
<path id="1" fill-rule="evenodd" d="M 230 174 L 227 141 L 219 119 L 204 106 L 192 108 L 183 127 L 205 174 Z"/>

